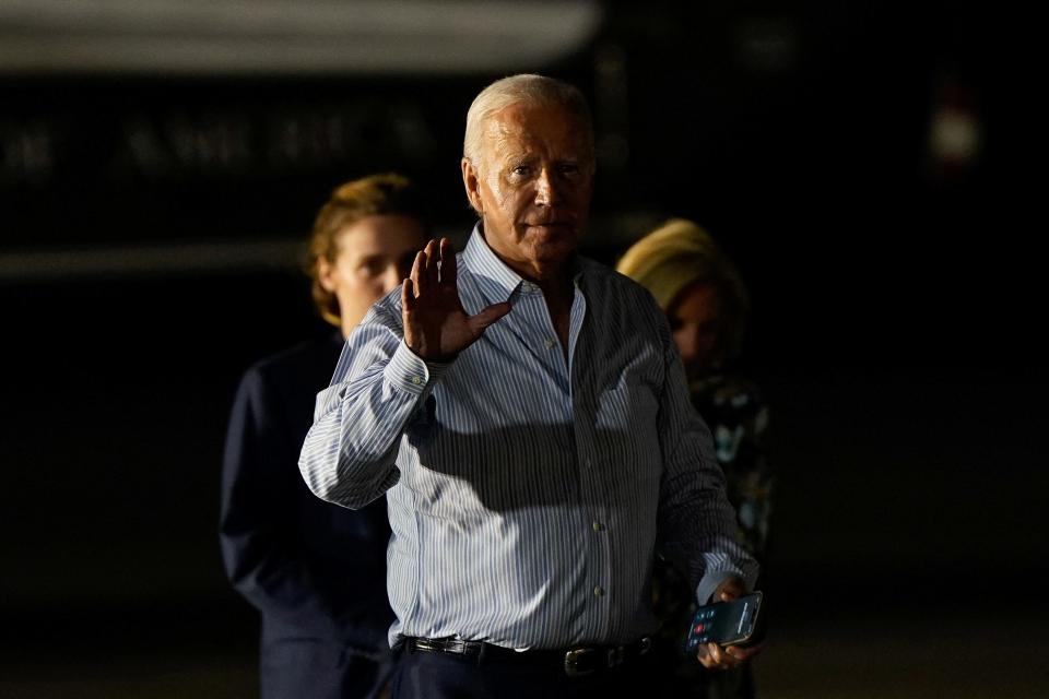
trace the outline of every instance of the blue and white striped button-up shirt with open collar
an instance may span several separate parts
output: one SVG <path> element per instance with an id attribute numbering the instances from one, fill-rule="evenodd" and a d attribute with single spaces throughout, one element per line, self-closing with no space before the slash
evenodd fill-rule
<path id="1" fill-rule="evenodd" d="M 510 313 L 437 365 L 404 345 L 391 293 L 350 336 L 299 461 L 326 500 L 357 508 L 387 493 L 390 643 L 636 640 L 657 627 L 657 547 L 700 600 L 730 576 L 753 584 L 648 292 L 579 258 L 566 362 L 542 292 L 479 228 L 458 259 L 467 312 L 509 299 Z"/>

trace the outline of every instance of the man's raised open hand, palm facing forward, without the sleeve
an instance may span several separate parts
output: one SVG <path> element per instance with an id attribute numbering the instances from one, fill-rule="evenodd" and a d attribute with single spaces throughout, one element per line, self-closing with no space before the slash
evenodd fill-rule
<path id="1" fill-rule="evenodd" d="M 467 316 L 456 272 L 456 251 L 448 238 L 431 240 L 415 256 L 412 274 L 401 286 L 404 344 L 427 362 L 450 362 L 510 312 L 504 301 Z"/>

